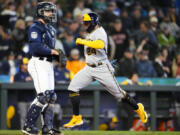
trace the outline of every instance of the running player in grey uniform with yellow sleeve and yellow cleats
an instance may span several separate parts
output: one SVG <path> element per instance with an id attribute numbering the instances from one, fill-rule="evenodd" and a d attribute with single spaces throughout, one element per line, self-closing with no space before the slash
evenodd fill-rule
<path id="1" fill-rule="evenodd" d="M 83 26 L 88 34 L 86 39 L 77 38 L 76 45 L 84 45 L 87 65 L 74 76 L 68 87 L 70 92 L 69 97 L 73 107 L 73 116 L 70 122 L 64 124 L 64 127 L 72 128 L 83 124 L 82 115 L 79 114 L 79 91 L 94 80 L 97 80 L 117 100 L 130 104 L 139 115 L 141 121 L 146 123 L 148 116 L 144 110 L 144 106 L 141 103 L 137 104 L 128 93 L 122 90 L 113 75 L 114 68 L 111 66 L 107 57 L 107 34 L 98 23 L 99 19 L 96 13 L 83 15 Z"/>

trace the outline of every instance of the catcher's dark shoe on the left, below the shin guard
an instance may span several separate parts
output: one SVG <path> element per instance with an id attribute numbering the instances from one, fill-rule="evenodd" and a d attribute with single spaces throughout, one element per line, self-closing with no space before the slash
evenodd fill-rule
<path id="1" fill-rule="evenodd" d="M 40 131 L 36 127 L 24 127 L 21 131 L 24 135 L 40 135 Z"/>

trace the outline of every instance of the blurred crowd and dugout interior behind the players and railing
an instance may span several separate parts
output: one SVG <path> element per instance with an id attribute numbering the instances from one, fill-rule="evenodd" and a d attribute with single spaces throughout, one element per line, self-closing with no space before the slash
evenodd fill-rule
<path id="1" fill-rule="evenodd" d="M 54 27 L 57 32 L 58 48 L 63 48 L 73 65 L 68 70 L 59 71 L 55 65 L 57 86 L 66 86 L 71 74 L 83 67 L 83 48 L 77 47 L 75 39 L 85 34 L 81 26 L 81 15 L 95 11 L 100 15 L 100 22 L 108 32 L 109 59 L 116 59 L 115 69 L 118 82 L 121 85 L 131 85 L 132 75 L 137 81 L 134 85 L 170 85 L 176 89 L 180 83 L 180 1 L 179 0 L 49 0 L 56 3 L 58 23 Z M 27 30 L 35 20 L 35 7 L 37 0 L 1 0 L 0 1 L 0 82 L 12 83 L 22 81 L 23 86 L 29 85 L 31 79 L 22 74 L 16 74 L 26 69 L 30 58 L 27 41 Z M 76 49 L 78 50 L 76 50 Z M 73 51 L 72 51 L 73 50 Z M 78 52 L 79 51 L 79 52 Z M 79 55 L 76 58 L 72 55 Z M 75 57 L 75 58 L 74 58 Z M 73 63 L 73 61 L 75 61 Z M 148 69 L 147 69 L 148 68 Z M 22 77 L 22 76 L 24 77 Z M 16 77 L 15 77 L 16 76 Z M 63 77 L 62 77 L 63 76 Z M 21 78 L 22 77 L 22 78 Z M 139 78 L 139 79 L 138 79 Z M 130 83 L 131 82 L 131 83 Z M 96 82 L 94 85 L 98 85 Z M 178 89 L 178 87 L 177 87 Z M 131 91 L 131 90 L 130 90 Z M 144 90 L 145 91 L 145 90 Z M 162 89 L 163 91 L 163 89 Z M 177 91 L 177 90 L 176 90 Z M 150 92 L 131 92 L 138 101 L 145 103 L 150 113 Z M 93 115 L 93 89 L 82 92 L 82 113 L 85 114 L 86 124 L 79 130 L 94 129 Z M 20 129 L 22 103 L 28 106 L 33 99 L 33 90 L 23 91 L 18 88 L 7 93 L 7 127 Z M 58 91 L 57 107 L 60 123 L 70 118 L 70 104 L 67 92 Z M 134 125 L 134 129 L 127 124 L 127 115 L 120 115 L 117 109 L 119 104 L 113 97 L 101 93 L 99 106 L 99 124 L 112 122 L 118 119 L 116 130 L 151 130 L 149 125 Z M 179 130 L 179 93 L 168 91 L 157 93 L 157 122 L 156 129 L 160 131 Z M 1 101 L 4 100 L 1 89 Z M 164 106 L 162 106 L 164 105 Z M 2 107 L 1 102 L 1 107 Z M 20 107 L 20 108 L 19 108 Z M 123 108 L 123 107 L 122 107 Z M 13 115 L 13 110 L 15 113 Z M 24 108 L 25 109 L 25 108 Z M 68 110 L 69 109 L 69 110 Z M 62 111 L 62 112 L 61 112 Z M 6 111 L 1 110 L 2 113 Z M 8 113 L 10 112 L 10 113 Z M 25 112 L 25 111 L 23 111 Z M 69 115 L 66 115 L 69 114 Z M 90 114 L 90 115 L 88 115 Z M 158 115 L 159 114 L 159 115 Z M 12 117 L 8 117 L 8 116 Z M 62 117 L 62 118 L 61 118 Z M 136 116 L 134 116 L 136 118 Z M 133 120 L 133 122 L 135 122 Z M 115 122 L 116 123 L 116 122 Z M 170 123 L 170 126 L 168 125 Z M 172 125 L 171 125 L 172 123 Z M 132 124 L 130 124 L 132 126 Z M 135 128 L 138 125 L 138 128 Z M 6 127 L 6 126 L 2 126 Z M 59 126 L 59 127 L 60 127 Z"/>

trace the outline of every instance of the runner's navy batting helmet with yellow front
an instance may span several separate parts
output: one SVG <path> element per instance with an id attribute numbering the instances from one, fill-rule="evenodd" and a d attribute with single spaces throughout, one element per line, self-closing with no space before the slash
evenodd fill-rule
<path id="1" fill-rule="evenodd" d="M 99 17 L 96 13 L 88 13 L 83 15 L 83 23 L 84 25 L 90 24 L 90 26 L 87 28 L 88 32 L 91 32 L 94 27 L 99 24 Z"/>

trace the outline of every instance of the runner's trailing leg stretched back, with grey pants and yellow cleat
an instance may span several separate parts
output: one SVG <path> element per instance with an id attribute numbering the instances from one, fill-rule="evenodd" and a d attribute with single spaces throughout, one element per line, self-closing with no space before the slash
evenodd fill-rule
<path id="1" fill-rule="evenodd" d="M 144 106 L 129 96 L 124 90 L 122 90 L 115 79 L 114 74 L 110 70 L 110 66 L 107 64 L 106 71 L 96 75 L 97 80 L 119 101 L 126 102 L 133 107 L 134 111 L 139 115 L 143 123 L 147 122 L 148 116 L 144 110 Z"/>

